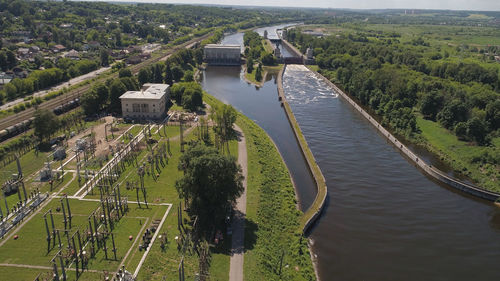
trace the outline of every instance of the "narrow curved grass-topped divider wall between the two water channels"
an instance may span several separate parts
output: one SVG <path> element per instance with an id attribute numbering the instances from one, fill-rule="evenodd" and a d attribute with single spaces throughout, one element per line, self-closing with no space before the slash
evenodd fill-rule
<path id="1" fill-rule="evenodd" d="M 326 180 L 325 177 L 323 176 L 323 173 L 321 172 L 321 169 L 319 168 L 318 164 L 316 163 L 316 159 L 314 159 L 314 155 L 312 154 L 311 150 L 309 149 L 309 146 L 307 144 L 307 141 L 302 134 L 302 131 L 300 130 L 300 126 L 297 123 L 297 120 L 295 119 L 295 116 L 293 115 L 292 109 L 290 108 L 290 105 L 286 101 L 285 98 L 285 92 L 283 90 L 283 74 L 286 70 L 286 65 L 283 67 L 278 74 L 278 95 L 279 98 L 282 102 L 282 105 L 285 109 L 286 116 L 288 118 L 288 121 L 290 122 L 290 125 L 292 126 L 292 129 L 295 133 L 295 137 L 297 138 L 297 141 L 300 144 L 300 148 L 302 151 L 302 154 L 307 160 L 307 165 L 309 167 L 309 170 L 311 174 L 313 175 L 314 181 L 316 182 L 317 186 L 317 194 L 314 199 L 314 202 L 312 205 L 307 209 L 307 211 L 304 213 L 304 215 L 301 218 L 301 226 L 302 230 L 304 233 L 308 231 L 308 229 L 312 226 L 312 224 L 316 221 L 316 219 L 320 216 L 321 211 L 323 210 L 325 203 L 326 203 L 326 198 L 328 195 L 328 190 L 326 187 Z"/>

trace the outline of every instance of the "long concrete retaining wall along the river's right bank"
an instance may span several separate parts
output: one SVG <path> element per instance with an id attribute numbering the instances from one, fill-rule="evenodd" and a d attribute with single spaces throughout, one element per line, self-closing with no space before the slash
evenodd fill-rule
<path id="1" fill-rule="evenodd" d="M 482 189 L 478 186 L 474 186 L 453 177 L 448 176 L 439 169 L 434 168 L 432 165 L 428 165 L 425 161 L 414 154 L 410 149 L 408 149 L 403 143 L 399 142 L 396 137 L 394 137 L 389 131 L 387 131 L 382 125 L 380 125 L 375 119 L 373 119 L 370 114 L 368 114 L 362 107 L 360 107 L 356 102 L 354 102 L 348 95 L 346 95 L 342 90 L 340 90 L 335 84 L 330 80 L 326 79 L 323 75 L 313 71 L 313 73 L 323 79 L 330 87 L 335 90 L 339 95 L 341 95 L 347 102 L 349 102 L 361 115 L 363 115 L 370 123 L 384 136 L 386 137 L 395 147 L 397 147 L 405 156 L 407 156 L 415 165 L 421 168 L 429 176 L 459 190 L 472 194 L 474 196 L 489 200 L 497 201 L 500 199 L 500 193 L 488 191 Z"/>

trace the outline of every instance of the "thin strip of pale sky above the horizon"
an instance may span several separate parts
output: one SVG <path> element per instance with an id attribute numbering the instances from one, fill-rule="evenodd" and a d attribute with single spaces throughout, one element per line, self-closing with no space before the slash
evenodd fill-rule
<path id="1" fill-rule="evenodd" d="M 244 6 L 318 7 L 349 9 L 442 9 L 500 11 L 500 0 L 107 0 Z"/>

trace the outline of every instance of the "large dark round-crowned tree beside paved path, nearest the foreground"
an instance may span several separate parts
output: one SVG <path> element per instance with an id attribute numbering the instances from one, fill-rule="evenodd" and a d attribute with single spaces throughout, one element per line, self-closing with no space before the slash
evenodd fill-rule
<path id="1" fill-rule="evenodd" d="M 203 144 L 190 147 L 179 160 L 184 176 L 175 183 L 181 198 L 198 217 L 202 232 L 224 222 L 226 211 L 244 190 L 243 175 L 233 156 L 221 155 Z"/>

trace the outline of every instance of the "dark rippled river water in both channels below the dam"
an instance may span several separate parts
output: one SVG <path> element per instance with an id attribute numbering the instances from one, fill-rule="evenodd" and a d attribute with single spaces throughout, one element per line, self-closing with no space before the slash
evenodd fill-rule
<path id="1" fill-rule="evenodd" d="M 257 89 L 241 75 L 208 67 L 203 87 L 267 131 L 305 210 L 316 190 L 275 80 Z M 328 185 L 311 233 L 321 280 L 500 280 L 500 208 L 424 176 L 306 69 L 287 67 L 284 89 Z"/>

